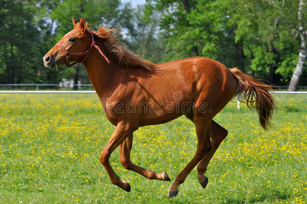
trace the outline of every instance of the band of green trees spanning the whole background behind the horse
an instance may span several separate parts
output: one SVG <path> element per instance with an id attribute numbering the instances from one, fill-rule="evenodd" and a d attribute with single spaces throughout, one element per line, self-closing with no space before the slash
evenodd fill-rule
<path id="1" fill-rule="evenodd" d="M 83 17 L 92 29 L 119 28 L 131 51 L 155 63 L 206 56 L 289 86 L 307 84 L 303 0 L 0 0 L 0 83 L 90 83 L 83 64 L 44 67 L 42 57 Z"/>

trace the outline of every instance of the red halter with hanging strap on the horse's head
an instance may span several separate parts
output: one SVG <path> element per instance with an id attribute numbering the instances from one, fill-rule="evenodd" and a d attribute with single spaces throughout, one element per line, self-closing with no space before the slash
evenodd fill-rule
<path id="1" fill-rule="evenodd" d="M 67 67 L 72 66 L 72 65 L 79 63 L 79 62 L 83 63 L 86 60 L 86 58 L 88 58 L 88 55 L 90 54 L 93 47 L 95 47 L 100 52 L 100 54 L 107 60 L 108 64 L 110 64 L 110 60 L 106 57 L 106 55 L 104 55 L 104 53 L 101 51 L 101 49 L 96 45 L 93 32 L 92 31 L 89 31 L 89 32 L 91 33 L 91 36 L 92 36 L 92 44 L 91 44 L 91 47 L 86 52 L 71 53 L 71 52 L 67 51 L 60 43 L 56 43 L 56 45 L 59 46 L 65 52 L 65 55 L 66 55 L 65 65 Z M 70 64 L 70 56 L 81 56 L 81 55 L 85 55 L 85 56 L 80 61 L 75 61 L 75 62 Z"/>

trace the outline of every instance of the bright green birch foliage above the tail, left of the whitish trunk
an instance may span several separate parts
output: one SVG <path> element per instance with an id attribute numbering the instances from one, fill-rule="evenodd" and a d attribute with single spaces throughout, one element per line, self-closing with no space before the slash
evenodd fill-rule
<path id="1" fill-rule="evenodd" d="M 231 0 L 232 24 L 238 25 L 236 41 L 242 41 L 243 51 L 254 75 L 263 76 L 271 83 L 280 80 L 286 85 L 294 71 L 299 38 L 292 27 L 284 23 L 278 9 L 268 4 L 270 1 Z M 276 1 L 278 2 L 278 1 Z M 286 14 L 292 24 L 297 24 L 298 1 L 285 1 Z M 269 76 L 270 75 L 270 76 Z M 274 76 L 275 75 L 275 76 Z M 304 83 L 304 82 L 302 82 Z"/>

